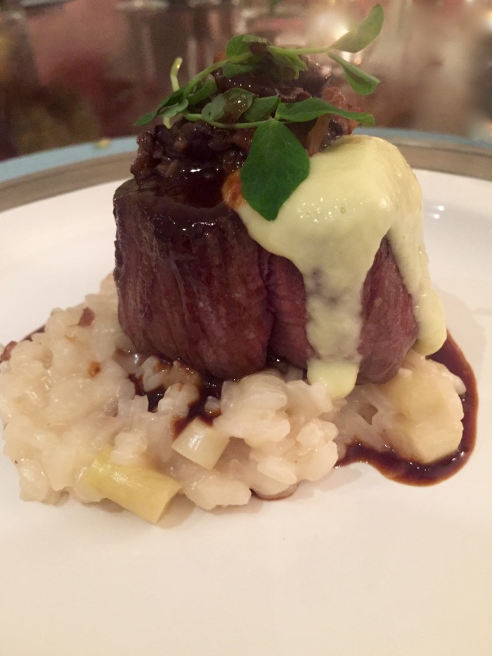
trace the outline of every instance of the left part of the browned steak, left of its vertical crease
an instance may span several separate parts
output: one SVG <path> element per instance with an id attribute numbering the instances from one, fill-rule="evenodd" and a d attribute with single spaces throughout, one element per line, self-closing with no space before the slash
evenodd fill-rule
<path id="1" fill-rule="evenodd" d="M 272 314 L 260 248 L 238 215 L 133 180 L 117 190 L 115 215 L 119 321 L 137 349 L 223 379 L 261 369 Z"/>

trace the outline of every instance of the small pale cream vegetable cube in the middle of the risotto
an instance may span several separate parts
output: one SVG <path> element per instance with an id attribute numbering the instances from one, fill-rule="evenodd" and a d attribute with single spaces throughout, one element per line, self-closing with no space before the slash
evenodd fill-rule
<path id="1" fill-rule="evenodd" d="M 228 442 L 228 436 L 197 417 L 174 440 L 172 448 L 193 463 L 212 469 Z"/>

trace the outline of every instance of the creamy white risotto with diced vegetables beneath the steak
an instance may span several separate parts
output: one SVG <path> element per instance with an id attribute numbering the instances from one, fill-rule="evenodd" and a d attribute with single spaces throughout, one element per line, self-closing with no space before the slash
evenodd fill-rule
<path id="1" fill-rule="evenodd" d="M 208 388 L 179 361 L 136 352 L 112 276 L 2 360 L 4 451 L 22 499 L 107 498 L 152 522 L 176 494 L 205 510 L 246 504 L 252 491 L 287 496 L 325 477 L 354 439 L 432 463 L 462 435 L 462 382 L 415 352 L 390 382 L 337 401 L 294 368 Z"/>

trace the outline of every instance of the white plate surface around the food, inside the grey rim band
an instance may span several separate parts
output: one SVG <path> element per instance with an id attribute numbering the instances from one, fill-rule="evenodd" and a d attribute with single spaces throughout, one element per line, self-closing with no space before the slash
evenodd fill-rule
<path id="1" fill-rule="evenodd" d="M 492 653 L 492 183 L 418 172 L 432 275 L 477 375 L 477 446 L 434 487 L 335 470 L 290 499 L 160 526 L 18 499 L 0 458 L 6 656 Z M 0 342 L 112 269 L 103 184 L 0 214 Z"/>

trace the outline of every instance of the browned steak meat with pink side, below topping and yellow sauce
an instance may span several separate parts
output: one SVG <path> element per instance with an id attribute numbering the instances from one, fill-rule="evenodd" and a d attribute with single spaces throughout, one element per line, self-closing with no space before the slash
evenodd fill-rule
<path id="1" fill-rule="evenodd" d="M 144 354 L 240 378 L 278 358 L 306 368 L 302 275 L 266 252 L 224 202 L 193 207 L 155 181 L 115 193 L 119 321 Z M 358 382 L 389 380 L 415 342 L 413 304 L 384 239 L 363 285 Z M 330 326 L 327 326 L 330 330 Z"/>

